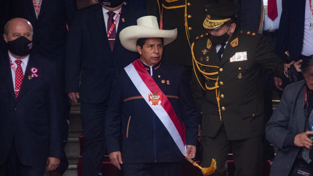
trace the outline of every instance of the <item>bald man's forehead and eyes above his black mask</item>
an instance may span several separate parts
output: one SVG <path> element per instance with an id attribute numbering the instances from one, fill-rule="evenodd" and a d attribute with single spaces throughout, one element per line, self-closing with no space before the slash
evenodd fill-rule
<path id="1" fill-rule="evenodd" d="M 26 37 L 28 40 L 33 39 L 32 29 L 25 21 L 13 21 L 9 25 L 8 35 L 3 34 L 4 40 L 7 43 L 21 36 Z"/>

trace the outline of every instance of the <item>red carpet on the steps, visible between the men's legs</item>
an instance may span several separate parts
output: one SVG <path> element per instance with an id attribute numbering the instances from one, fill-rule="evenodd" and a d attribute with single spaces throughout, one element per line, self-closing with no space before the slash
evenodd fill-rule
<path id="1" fill-rule="evenodd" d="M 84 136 L 80 136 L 80 155 L 82 154 L 83 151 L 83 141 L 84 141 Z M 233 176 L 235 173 L 235 165 L 232 159 L 232 156 L 230 155 L 228 157 L 228 176 Z M 197 161 L 198 163 L 200 161 Z M 77 163 L 77 174 L 78 176 L 82 176 L 82 169 L 83 169 L 83 159 L 80 158 L 80 160 Z M 182 163 L 182 176 L 197 176 L 198 175 L 199 169 L 192 166 L 191 163 Z M 105 157 L 103 160 L 102 164 L 102 169 L 101 169 L 102 175 L 103 176 L 118 176 L 117 174 L 117 168 L 113 166 L 110 163 L 109 157 Z M 269 176 L 270 172 L 270 165 L 269 161 L 264 161 L 263 163 L 263 174 L 262 176 Z"/>

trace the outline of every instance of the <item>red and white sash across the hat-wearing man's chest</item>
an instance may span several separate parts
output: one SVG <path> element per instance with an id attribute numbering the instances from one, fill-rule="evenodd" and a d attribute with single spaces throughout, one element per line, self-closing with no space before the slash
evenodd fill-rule
<path id="1" fill-rule="evenodd" d="M 152 79 L 151 75 L 147 72 L 146 68 L 141 64 L 139 59 L 126 66 L 124 70 L 146 103 L 151 107 L 154 113 L 156 113 L 156 116 L 158 116 L 163 125 L 166 127 L 179 150 L 185 156 L 187 149 L 185 127 L 180 123 L 170 101 L 167 99 L 156 82 Z M 149 103 L 150 95 L 154 92 L 161 93 L 162 101 L 159 105 L 151 105 Z"/>

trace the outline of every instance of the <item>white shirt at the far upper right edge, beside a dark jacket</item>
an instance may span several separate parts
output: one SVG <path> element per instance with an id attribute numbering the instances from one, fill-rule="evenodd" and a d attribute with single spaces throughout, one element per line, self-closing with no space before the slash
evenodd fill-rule
<path id="1" fill-rule="evenodd" d="M 311 31 L 311 9 L 310 0 L 305 0 L 304 35 L 301 54 L 310 56 L 313 54 L 313 31 Z"/>

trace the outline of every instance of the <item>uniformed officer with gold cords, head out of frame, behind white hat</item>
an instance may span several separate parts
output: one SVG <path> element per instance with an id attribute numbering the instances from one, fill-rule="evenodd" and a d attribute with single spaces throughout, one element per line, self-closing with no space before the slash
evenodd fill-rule
<path id="1" fill-rule="evenodd" d="M 158 18 L 160 29 L 177 28 L 177 39 L 164 47 L 164 61 L 185 67 L 187 78 L 192 75 L 192 55 L 190 46 L 199 33 L 205 32 L 202 20 L 206 13 L 204 4 L 227 0 L 149 0 L 147 14 Z M 200 10 L 199 10 L 200 9 Z"/>

